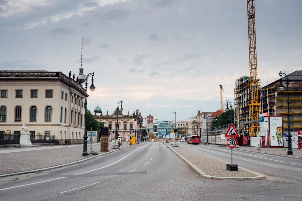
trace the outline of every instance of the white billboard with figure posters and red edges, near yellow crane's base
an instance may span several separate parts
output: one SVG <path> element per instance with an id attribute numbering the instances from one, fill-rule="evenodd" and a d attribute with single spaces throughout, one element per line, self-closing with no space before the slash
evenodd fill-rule
<path id="1" fill-rule="evenodd" d="M 265 145 L 283 147 L 282 116 L 265 116 Z"/>

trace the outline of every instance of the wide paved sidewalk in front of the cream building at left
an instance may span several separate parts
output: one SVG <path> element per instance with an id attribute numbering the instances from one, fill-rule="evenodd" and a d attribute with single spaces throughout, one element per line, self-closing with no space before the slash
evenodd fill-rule
<path id="1" fill-rule="evenodd" d="M 47 169 L 62 167 L 64 165 L 74 164 L 95 158 L 99 155 L 108 154 L 118 149 L 111 148 L 109 143 L 109 152 L 101 152 L 101 144 L 93 143 L 92 152 L 98 152 L 98 155 L 82 156 L 83 144 L 78 145 L 50 145 L 34 147 L 14 147 L 0 148 L 0 177 L 39 172 Z M 132 145 L 131 145 L 132 146 Z M 120 148 L 127 147 L 124 142 Z M 87 152 L 90 153 L 91 145 L 87 144 Z"/>

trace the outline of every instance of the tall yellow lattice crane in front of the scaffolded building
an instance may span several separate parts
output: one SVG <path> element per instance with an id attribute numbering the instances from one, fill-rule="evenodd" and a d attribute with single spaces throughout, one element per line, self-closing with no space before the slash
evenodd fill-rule
<path id="1" fill-rule="evenodd" d="M 247 16 L 249 26 L 249 75 L 250 75 L 250 136 L 256 136 L 259 131 L 259 95 L 256 54 L 256 30 L 255 30 L 255 0 L 247 0 Z"/>

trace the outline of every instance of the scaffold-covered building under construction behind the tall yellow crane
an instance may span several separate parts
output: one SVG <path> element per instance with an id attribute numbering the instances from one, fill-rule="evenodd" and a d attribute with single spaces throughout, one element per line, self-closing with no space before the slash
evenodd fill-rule
<path id="1" fill-rule="evenodd" d="M 276 72 L 277 76 L 278 73 Z M 279 79 L 266 85 L 258 80 L 259 114 L 282 116 L 283 131 L 286 132 L 289 97 L 291 132 L 296 133 L 298 130 L 302 130 L 302 70 L 292 72 L 287 76 L 288 90 L 285 87 L 284 91 L 280 91 L 278 88 Z M 251 123 L 255 123 L 252 122 L 255 120 L 252 120 L 250 113 L 250 94 L 250 77 L 237 79 L 234 89 L 235 126 L 241 134 L 255 136 L 255 133 L 250 132 Z"/>

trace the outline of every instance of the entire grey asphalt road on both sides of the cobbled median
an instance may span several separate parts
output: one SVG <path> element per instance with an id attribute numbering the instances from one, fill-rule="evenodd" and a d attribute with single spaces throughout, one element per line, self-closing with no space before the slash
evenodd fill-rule
<path id="1" fill-rule="evenodd" d="M 230 161 L 227 148 L 180 145 Z M 2 177 L 0 200 L 302 199 L 301 160 L 240 150 L 233 151 L 233 160 L 267 179 L 203 179 L 162 142 L 146 142 L 64 168 Z"/>

